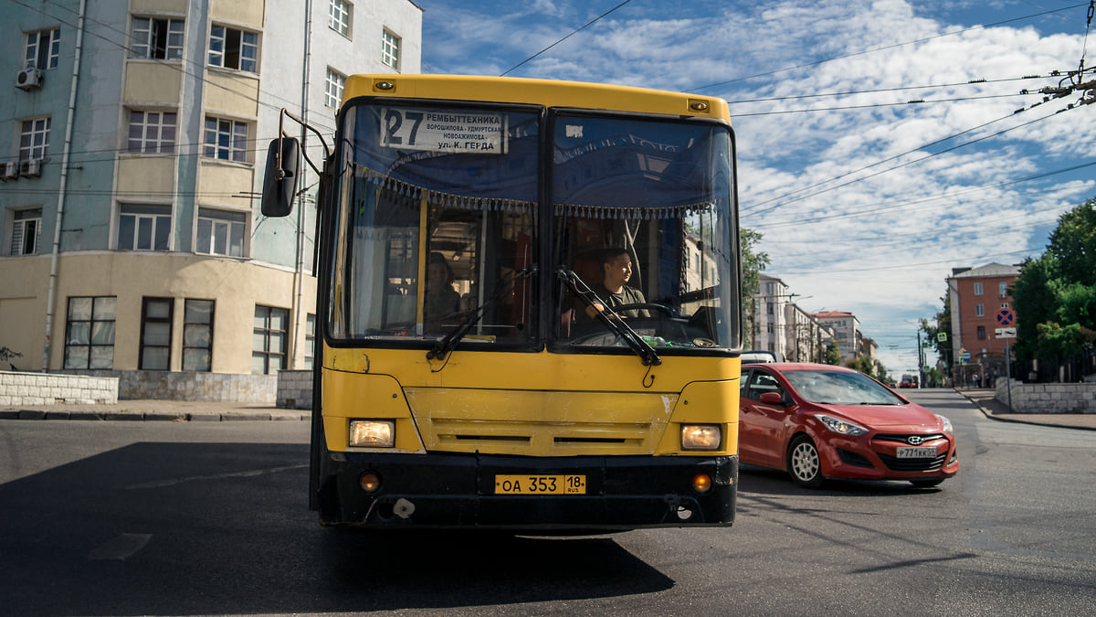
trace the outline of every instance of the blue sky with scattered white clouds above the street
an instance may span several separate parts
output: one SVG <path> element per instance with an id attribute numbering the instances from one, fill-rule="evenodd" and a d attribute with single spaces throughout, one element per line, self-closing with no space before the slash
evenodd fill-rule
<path id="1" fill-rule="evenodd" d="M 1096 104 L 1039 93 L 1096 79 L 1088 0 L 414 2 L 425 74 L 726 99 L 765 273 L 856 315 L 891 375 L 952 268 L 1038 256 L 1096 198 Z"/>

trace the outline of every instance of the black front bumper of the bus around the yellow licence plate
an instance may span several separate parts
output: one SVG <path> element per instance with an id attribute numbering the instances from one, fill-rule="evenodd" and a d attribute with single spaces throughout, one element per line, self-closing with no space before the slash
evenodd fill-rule
<path id="1" fill-rule="evenodd" d="M 317 504 L 324 525 L 369 528 L 626 530 L 728 526 L 738 457 L 525 458 L 328 452 Z M 363 489 L 364 485 L 372 489 Z M 710 479 L 694 489 L 697 474 Z M 578 494 L 509 494 L 516 481 L 550 487 L 581 478 Z M 369 482 L 375 479 L 377 482 Z M 513 489 L 506 484 L 506 489 Z"/>

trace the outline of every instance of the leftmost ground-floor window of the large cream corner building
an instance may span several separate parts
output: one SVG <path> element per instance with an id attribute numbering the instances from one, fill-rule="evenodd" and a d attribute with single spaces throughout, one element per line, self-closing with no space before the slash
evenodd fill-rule
<path id="1" fill-rule="evenodd" d="M 66 369 L 114 368 L 114 296 L 69 298 Z"/>

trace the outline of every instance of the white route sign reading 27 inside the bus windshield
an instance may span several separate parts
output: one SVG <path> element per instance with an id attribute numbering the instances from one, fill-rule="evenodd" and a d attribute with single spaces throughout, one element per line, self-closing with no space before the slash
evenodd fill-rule
<path id="1" fill-rule="evenodd" d="M 500 113 L 386 108 L 380 110 L 380 145 L 435 153 L 505 154 L 506 119 Z"/>

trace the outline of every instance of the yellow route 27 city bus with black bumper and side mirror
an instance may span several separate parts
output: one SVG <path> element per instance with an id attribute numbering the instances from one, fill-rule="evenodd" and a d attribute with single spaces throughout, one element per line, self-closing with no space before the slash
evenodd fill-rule
<path id="1" fill-rule="evenodd" d="M 299 144 L 284 135 L 269 216 L 296 190 Z M 321 524 L 733 523 L 741 265 L 724 101 L 357 75 L 318 202 Z"/>

